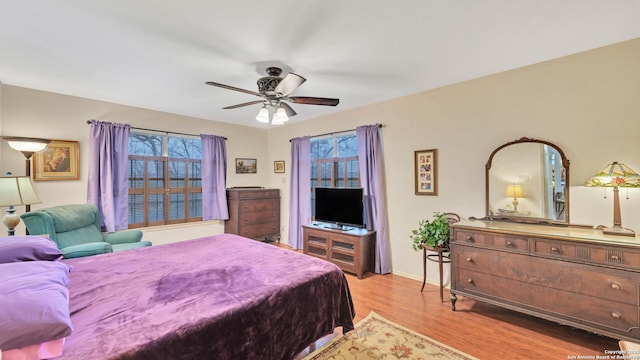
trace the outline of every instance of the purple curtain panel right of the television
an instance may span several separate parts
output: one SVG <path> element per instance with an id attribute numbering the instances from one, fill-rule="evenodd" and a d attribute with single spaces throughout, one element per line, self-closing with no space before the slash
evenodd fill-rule
<path id="1" fill-rule="evenodd" d="M 360 182 L 364 188 L 367 228 L 376 231 L 375 273 L 391 272 L 391 255 L 387 236 L 387 206 L 384 195 L 382 140 L 378 125 L 356 128 Z"/>

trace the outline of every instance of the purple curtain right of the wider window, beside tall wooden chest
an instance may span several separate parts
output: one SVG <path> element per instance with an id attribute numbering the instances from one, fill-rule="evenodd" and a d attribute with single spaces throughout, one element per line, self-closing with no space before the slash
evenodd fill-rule
<path id="1" fill-rule="evenodd" d="M 226 220 L 227 145 L 224 137 L 200 135 L 202 141 L 202 220 Z"/>

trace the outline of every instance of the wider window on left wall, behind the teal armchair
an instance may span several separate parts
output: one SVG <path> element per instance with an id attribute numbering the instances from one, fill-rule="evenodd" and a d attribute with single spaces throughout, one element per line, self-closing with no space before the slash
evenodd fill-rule
<path id="1" fill-rule="evenodd" d="M 129 135 L 129 228 L 202 220 L 199 138 Z"/>

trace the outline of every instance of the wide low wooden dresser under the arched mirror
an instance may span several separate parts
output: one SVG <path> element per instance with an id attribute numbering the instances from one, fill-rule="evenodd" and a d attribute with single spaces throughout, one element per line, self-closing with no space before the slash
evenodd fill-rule
<path id="1" fill-rule="evenodd" d="M 640 340 L 640 237 L 499 221 L 452 225 L 458 295 L 616 339 Z"/>

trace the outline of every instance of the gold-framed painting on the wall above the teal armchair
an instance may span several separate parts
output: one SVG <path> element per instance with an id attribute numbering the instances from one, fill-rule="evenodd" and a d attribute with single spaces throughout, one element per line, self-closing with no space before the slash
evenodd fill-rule
<path id="1" fill-rule="evenodd" d="M 33 180 L 80 179 L 80 143 L 51 140 L 47 147 L 32 158 Z"/>

